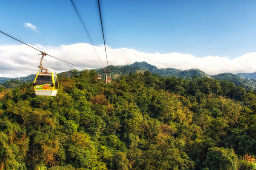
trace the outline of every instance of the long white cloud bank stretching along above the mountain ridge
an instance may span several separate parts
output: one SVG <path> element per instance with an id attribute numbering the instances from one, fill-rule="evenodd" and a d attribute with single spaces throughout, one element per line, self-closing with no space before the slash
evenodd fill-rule
<path id="1" fill-rule="evenodd" d="M 87 43 L 76 43 L 60 46 L 35 45 L 41 51 L 56 58 L 63 59 L 83 68 L 102 68 L 103 65 L 96 55 L 92 46 Z M 95 46 L 104 66 L 107 65 L 103 46 Z M 107 47 L 110 65 L 127 65 L 135 61 L 146 61 L 159 68 L 190 69 L 198 68 L 207 74 L 219 74 L 223 72 L 250 73 L 255 72 L 256 52 L 246 53 L 238 58 L 206 56 L 195 57 L 191 54 L 171 52 L 161 54 L 140 52 L 128 48 L 112 49 Z M 3 45 L 0 46 L 0 77 L 19 77 L 36 74 L 40 64 L 39 52 L 26 45 Z M 60 73 L 70 69 L 82 70 L 58 59 L 46 56 L 43 59 L 43 67 L 49 71 Z"/>

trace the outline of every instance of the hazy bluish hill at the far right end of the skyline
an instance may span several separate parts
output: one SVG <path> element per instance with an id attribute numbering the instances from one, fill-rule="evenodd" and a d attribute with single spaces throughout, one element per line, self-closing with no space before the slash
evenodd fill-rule
<path id="1" fill-rule="evenodd" d="M 256 88 L 256 80 L 255 79 L 245 79 L 240 76 L 237 76 L 233 73 L 221 73 L 218 75 L 211 76 L 212 78 L 218 80 L 227 80 L 233 82 L 235 85 L 243 85 L 245 87 L 251 86 Z"/>

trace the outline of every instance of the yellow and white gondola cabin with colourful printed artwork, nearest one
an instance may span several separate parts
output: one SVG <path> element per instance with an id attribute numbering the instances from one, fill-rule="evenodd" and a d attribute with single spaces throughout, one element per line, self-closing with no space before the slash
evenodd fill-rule
<path id="1" fill-rule="evenodd" d="M 37 72 L 33 86 L 36 95 L 55 96 L 59 88 L 57 75 Z"/>

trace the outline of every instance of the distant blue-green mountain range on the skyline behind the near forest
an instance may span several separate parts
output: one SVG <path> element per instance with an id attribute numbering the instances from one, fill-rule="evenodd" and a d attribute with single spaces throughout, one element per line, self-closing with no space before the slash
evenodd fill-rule
<path id="1" fill-rule="evenodd" d="M 193 76 L 198 76 L 198 77 L 210 77 L 207 75 L 205 72 L 192 68 L 188 70 L 179 70 L 175 68 L 160 68 L 158 69 L 156 66 L 153 66 L 151 64 L 148 64 L 147 62 L 135 62 L 130 65 L 125 65 L 125 66 L 109 66 L 111 70 L 111 77 L 112 79 L 116 79 L 119 76 L 122 75 L 128 75 L 132 73 L 143 73 L 145 71 L 150 71 L 154 74 L 157 74 L 159 76 L 163 77 L 171 77 L 171 76 L 176 76 L 176 77 L 183 77 L 183 78 L 192 78 Z M 105 78 L 105 75 L 102 71 L 102 68 L 97 68 L 94 69 L 97 73 L 99 73 L 102 78 Z M 66 72 L 59 73 L 59 75 L 64 75 L 64 76 L 73 76 L 73 73 L 78 72 L 77 70 L 70 70 Z M 23 81 L 29 82 L 33 81 L 36 75 L 30 75 L 27 77 L 20 77 L 20 81 L 15 81 L 15 80 L 8 80 L 8 82 L 2 83 L 0 85 L 0 88 L 15 88 L 18 85 L 22 85 Z M 219 79 L 219 80 L 227 80 L 235 83 L 235 85 L 242 85 L 244 87 L 252 87 L 256 88 L 256 79 L 245 79 L 242 77 L 239 77 L 235 74 L 232 73 L 221 73 L 218 75 L 211 76 L 212 78 Z M 2 82 L 4 82 L 6 79 L 5 77 L 0 77 L 0 81 L 2 79 Z M 15 78 L 18 79 L 18 78 Z"/>

